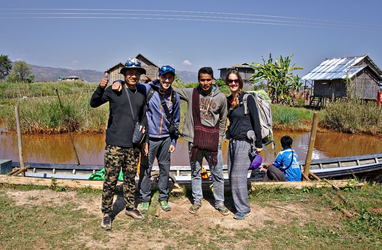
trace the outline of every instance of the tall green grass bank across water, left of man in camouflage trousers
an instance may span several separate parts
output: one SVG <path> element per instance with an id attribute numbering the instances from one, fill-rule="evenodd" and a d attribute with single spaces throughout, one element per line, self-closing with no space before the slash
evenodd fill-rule
<path id="1" fill-rule="evenodd" d="M 109 112 L 108 104 L 96 109 L 91 108 L 89 95 L 62 95 L 61 100 L 71 131 L 105 133 Z M 67 132 L 56 97 L 15 99 L 13 104 L 19 105 L 23 133 L 58 134 Z M 3 126 L 16 130 L 14 105 L 0 107 L 0 119 Z"/>

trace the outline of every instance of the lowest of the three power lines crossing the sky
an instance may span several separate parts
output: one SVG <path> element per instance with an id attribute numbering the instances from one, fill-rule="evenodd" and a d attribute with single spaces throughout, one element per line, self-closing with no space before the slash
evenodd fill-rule
<path id="1" fill-rule="evenodd" d="M 227 23 L 252 23 L 252 24 L 270 24 L 270 25 L 282 25 L 282 26 L 297 26 L 297 27 L 314 27 L 314 28 L 324 28 L 324 29 L 341 29 L 348 31 L 368 31 L 368 32 L 378 32 L 382 31 L 371 31 L 364 29 L 346 29 L 346 28 L 337 28 L 337 27 L 324 27 L 324 26 L 311 26 L 311 25 L 298 25 L 298 24 L 282 24 L 282 23 L 262 23 L 262 22 L 244 22 L 244 21 L 227 21 L 227 20 L 208 20 L 208 19 L 186 19 L 186 18 L 141 18 L 141 17 L 100 17 L 100 16 L 20 16 L 20 17 L 0 17 L 0 18 L 93 18 L 93 19 L 157 19 L 157 20 L 183 20 L 183 21 L 211 21 L 211 22 L 227 22 Z"/>

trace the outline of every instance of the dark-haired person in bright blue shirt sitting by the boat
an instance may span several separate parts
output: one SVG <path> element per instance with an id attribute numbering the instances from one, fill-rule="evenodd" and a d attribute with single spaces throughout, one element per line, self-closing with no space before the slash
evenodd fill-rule
<path id="1" fill-rule="evenodd" d="M 291 149 L 292 138 L 284 135 L 280 142 L 284 150 L 278 153 L 274 162 L 264 164 L 262 169 L 267 169 L 267 172 L 263 181 L 301 181 L 297 153 Z"/>

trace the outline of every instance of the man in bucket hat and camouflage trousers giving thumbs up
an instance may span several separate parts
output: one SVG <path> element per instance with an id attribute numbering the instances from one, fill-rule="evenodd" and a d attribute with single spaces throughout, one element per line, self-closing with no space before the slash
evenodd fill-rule
<path id="1" fill-rule="evenodd" d="M 135 176 L 139 159 L 139 151 L 147 155 L 149 152 L 147 134 L 147 117 L 145 95 L 138 91 L 136 84 L 146 70 L 136 58 L 129 58 L 120 71 L 125 76 L 121 81 L 123 92 L 117 92 L 107 86 L 107 73 L 92 95 L 90 105 L 96 108 L 109 102 L 110 113 L 106 129 L 105 147 L 105 181 L 102 190 L 102 219 L 104 230 L 112 229 L 112 205 L 120 170 L 123 173 L 123 196 L 125 198 L 125 214 L 136 220 L 145 217 L 134 206 Z M 142 124 L 141 132 L 145 133 L 142 146 L 133 144 L 135 121 Z"/>

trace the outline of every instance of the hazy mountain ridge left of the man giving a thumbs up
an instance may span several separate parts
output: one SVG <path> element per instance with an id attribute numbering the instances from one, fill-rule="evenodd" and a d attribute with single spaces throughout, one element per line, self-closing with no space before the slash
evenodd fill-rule
<path id="1" fill-rule="evenodd" d="M 69 76 L 79 76 L 78 70 L 72 69 L 63 69 L 63 68 L 52 68 L 52 67 L 42 67 L 37 65 L 31 65 L 32 73 L 35 74 L 34 81 L 57 81 L 57 77 L 69 77 Z M 91 70 L 91 69 L 83 69 L 81 73 L 84 74 L 84 80 L 87 82 L 99 82 L 102 77 L 105 76 L 104 72 Z"/>

